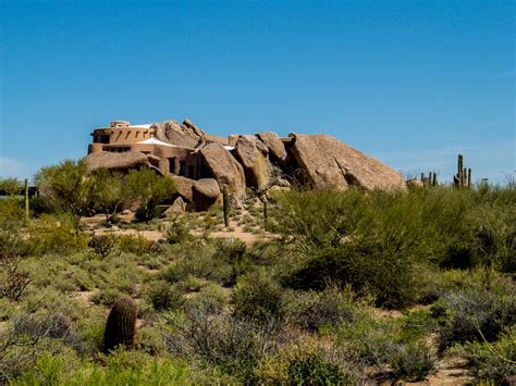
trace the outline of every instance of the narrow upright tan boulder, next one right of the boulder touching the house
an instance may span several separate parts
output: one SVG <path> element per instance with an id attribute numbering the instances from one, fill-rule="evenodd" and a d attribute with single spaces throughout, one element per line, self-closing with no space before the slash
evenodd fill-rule
<path id="1" fill-rule="evenodd" d="M 271 184 L 272 165 L 258 148 L 254 136 L 241 136 L 234 154 L 244 166 L 247 185 L 263 190 Z"/>

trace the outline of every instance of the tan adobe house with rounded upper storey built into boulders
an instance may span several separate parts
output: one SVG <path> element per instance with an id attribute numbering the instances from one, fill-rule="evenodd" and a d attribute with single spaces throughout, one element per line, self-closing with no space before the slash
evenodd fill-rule
<path id="1" fill-rule="evenodd" d="M 175 174 L 192 179 L 206 177 L 198 150 L 164 142 L 155 137 L 156 126 L 131 125 L 126 121 L 114 121 L 109 127 L 100 127 L 91 133 L 93 144 L 88 154 L 99 152 L 137 152 L 148 157 L 148 161 L 163 174 Z"/>

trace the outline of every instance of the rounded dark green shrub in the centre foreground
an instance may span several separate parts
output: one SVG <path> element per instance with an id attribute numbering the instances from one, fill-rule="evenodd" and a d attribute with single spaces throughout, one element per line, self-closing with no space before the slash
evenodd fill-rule
<path id="1" fill-rule="evenodd" d="M 257 323 L 281 319 L 283 289 L 265 273 L 248 273 L 238 277 L 233 289 L 235 315 L 250 317 Z"/>

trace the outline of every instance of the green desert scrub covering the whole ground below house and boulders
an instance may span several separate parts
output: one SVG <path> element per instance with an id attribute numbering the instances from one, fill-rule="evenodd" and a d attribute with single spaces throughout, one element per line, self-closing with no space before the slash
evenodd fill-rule
<path id="1" fill-rule="evenodd" d="M 270 200 L 263 241 L 210 237 L 216 207 L 201 234 L 183 214 L 160 221 L 165 239 L 153 242 L 91 236 L 79 216 L 96 195 L 112 199 L 107 222 L 131 198 L 151 223 L 173 187 L 144 170 L 119 196 L 109 176 L 79 169 L 42 172 L 48 195 L 32 200 L 29 219 L 16 189 L 0 200 L 0 382 L 421 381 L 451 358 L 472 382 L 514 382 L 514 184 L 293 190 Z M 143 182 L 149 194 L 136 197 Z M 261 207 L 248 213 L 263 226 Z M 107 350 L 122 295 L 137 306 L 134 344 Z"/>

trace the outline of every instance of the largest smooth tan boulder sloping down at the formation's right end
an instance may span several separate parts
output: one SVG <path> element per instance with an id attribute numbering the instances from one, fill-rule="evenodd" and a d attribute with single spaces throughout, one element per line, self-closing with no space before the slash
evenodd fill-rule
<path id="1" fill-rule="evenodd" d="M 328 135 L 290 134 L 290 152 L 314 188 L 406 189 L 395 170 Z"/>

